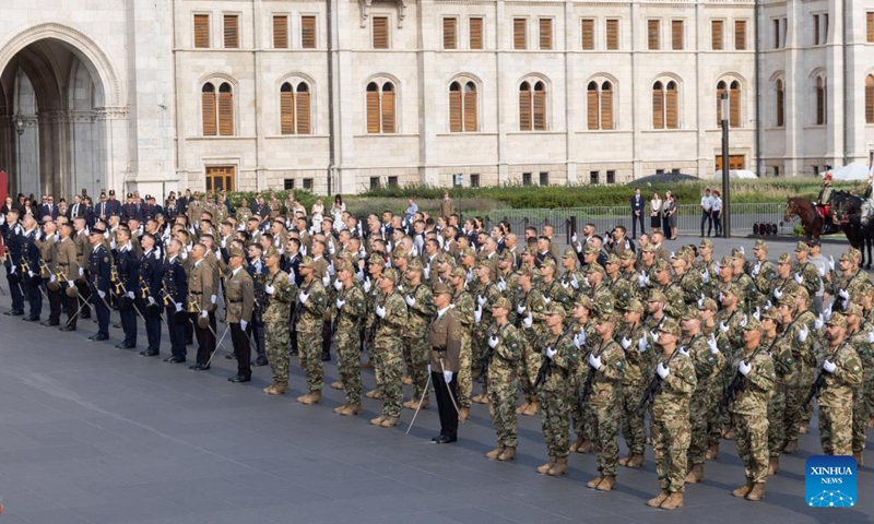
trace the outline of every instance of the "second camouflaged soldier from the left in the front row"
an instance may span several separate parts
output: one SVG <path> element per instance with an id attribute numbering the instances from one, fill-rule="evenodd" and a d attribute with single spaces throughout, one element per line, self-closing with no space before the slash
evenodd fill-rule
<path id="1" fill-rule="evenodd" d="M 295 327 L 297 330 L 297 350 L 300 367 L 307 380 L 308 393 L 297 397 L 300 404 L 317 404 L 321 401 L 324 370 L 321 365 L 322 324 L 324 310 L 328 308 L 328 291 L 321 278 L 316 275 L 316 264 L 309 257 L 304 257 L 299 266 L 304 282 L 297 295 L 299 303 L 295 309 Z"/>

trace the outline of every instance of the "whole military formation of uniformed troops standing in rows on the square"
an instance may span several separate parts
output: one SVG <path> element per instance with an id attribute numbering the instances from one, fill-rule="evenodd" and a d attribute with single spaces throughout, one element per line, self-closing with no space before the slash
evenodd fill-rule
<path id="1" fill-rule="evenodd" d="M 333 350 L 336 414 L 381 401 L 370 424 L 391 428 L 404 409 L 429 408 L 433 392 L 432 440 L 451 443 L 472 405 L 486 404 L 496 446 L 485 456 L 501 462 L 517 454 L 518 417 L 540 414 L 538 473 L 560 476 L 574 453 L 597 453 L 587 486 L 599 491 L 616 487 L 621 467 L 641 467 L 651 445 L 652 508 L 683 507 L 724 439 L 744 465 L 733 495 L 760 500 L 814 405 L 823 452 L 862 464 L 874 426 L 874 285 L 854 249 L 836 263 L 817 241 L 799 242 L 794 257 L 771 260 L 758 240 L 751 254 L 720 259 L 707 238 L 669 252 L 659 230 L 633 242 L 621 226 L 600 236 L 587 224 L 559 251 L 551 226 L 523 238 L 504 223 L 485 230 L 461 222 L 448 196 L 437 219 L 314 218 L 293 195 L 272 194 L 232 213 L 197 193 L 143 216 L 153 200 L 79 213 L 76 198 L 76 211 L 40 219 L 9 209 L 5 314 L 38 322 L 45 298 L 42 325 L 76 332 L 93 314 L 90 338 L 106 341 L 118 311 L 116 347 L 142 346 L 142 326 L 144 357 L 202 372 L 222 354 L 236 360 L 235 383 L 269 366 L 268 395 L 290 391 L 296 356 L 303 405 L 321 402 Z M 376 388 L 363 392 L 369 370 Z"/>

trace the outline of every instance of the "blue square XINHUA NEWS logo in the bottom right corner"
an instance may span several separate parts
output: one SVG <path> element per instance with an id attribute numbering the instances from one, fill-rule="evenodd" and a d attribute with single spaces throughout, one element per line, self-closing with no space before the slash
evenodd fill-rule
<path id="1" fill-rule="evenodd" d="M 855 505 L 855 458 L 812 456 L 804 465 L 805 497 L 811 508 Z"/>

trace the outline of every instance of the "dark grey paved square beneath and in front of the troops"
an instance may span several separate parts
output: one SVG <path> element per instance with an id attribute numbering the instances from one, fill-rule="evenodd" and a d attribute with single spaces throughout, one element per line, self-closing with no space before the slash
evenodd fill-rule
<path id="1" fill-rule="evenodd" d="M 697 240 L 681 237 L 668 248 Z M 749 253 L 753 242 L 718 241 L 717 253 L 735 245 Z M 837 259 L 846 246 L 828 243 L 824 252 Z M 773 242 L 770 258 L 793 247 Z M 8 306 L 0 296 L 0 308 Z M 115 349 L 120 330 L 108 342 L 87 342 L 95 331 L 90 321 L 64 334 L 0 315 L 0 524 L 863 523 L 874 515 L 864 497 L 874 487 L 870 466 L 860 469 L 855 508 L 805 505 L 804 461 L 819 452 L 815 431 L 802 436 L 798 454 L 783 455 L 763 502 L 731 497 L 743 469 L 734 443 L 723 441 L 706 481 L 686 488 L 685 508 L 666 512 L 645 505 L 658 492 L 650 450 L 642 469 L 619 468 L 616 491 L 594 492 L 584 487 L 594 455 L 574 454 L 563 478 L 534 472 L 546 453 L 539 417 L 521 417 L 516 461 L 491 462 L 483 457 L 494 443 L 485 406 L 474 405 L 457 444 L 435 445 L 435 408 L 405 436 L 410 410 L 398 428 L 381 429 L 368 424 L 375 401 L 353 418 L 332 412 L 342 403 L 334 390 L 326 389 L 321 405 L 296 404 L 299 368 L 293 391 L 272 397 L 261 392 L 268 368 L 256 368 L 248 384 L 225 380 L 236 369 L 223 358 L 227 350 L 211 371 L 194 372 L 140 357 L 144 347 Z M 335 380 L 333 364 L 326 376 Z M 365 372 L 365 386 L 373 385 Z M 865 458 L 874 464 L 874 455 Z"/>

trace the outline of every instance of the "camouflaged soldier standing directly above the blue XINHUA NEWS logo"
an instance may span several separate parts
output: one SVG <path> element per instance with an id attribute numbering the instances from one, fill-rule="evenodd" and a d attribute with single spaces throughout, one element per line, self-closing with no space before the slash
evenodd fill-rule
<path id="1" fill-rule="evenodd" d="M 853 432 L 853 388 L 862 383 L 859 354 L 847 340 L 847 319 L 832 313 L 826 322 L 828 348 L 820 373 L 825 384 L 819 391 L 819 442 L 823 454 L 851 455 Z"/>

